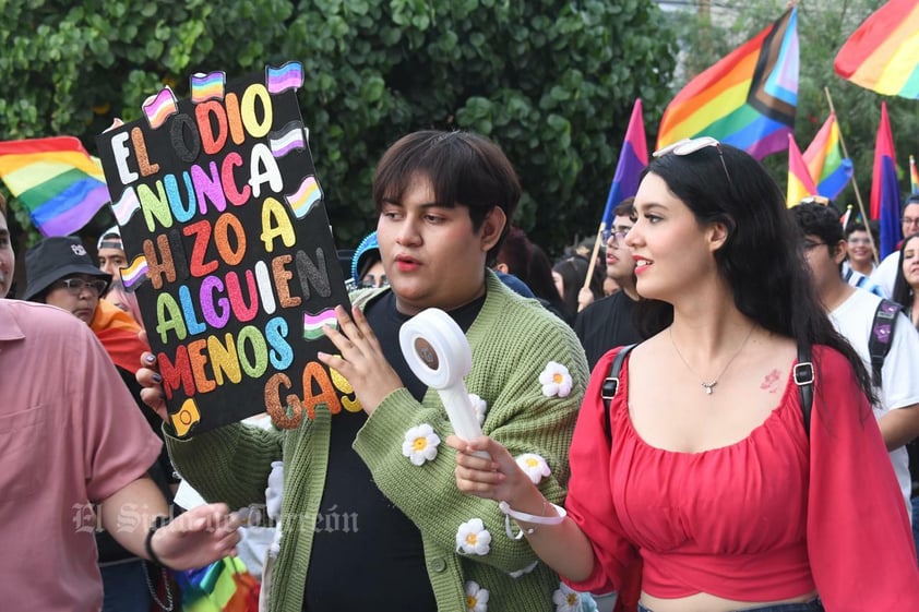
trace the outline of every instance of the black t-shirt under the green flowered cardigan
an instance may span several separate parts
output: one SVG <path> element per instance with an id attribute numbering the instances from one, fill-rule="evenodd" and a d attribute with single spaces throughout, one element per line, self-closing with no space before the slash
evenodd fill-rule
<path id="1" fill-rule="evenodd" d="M 450 315 L 465 332 L 484 303 L 485 297 Z M 392 291 L 368 304 L 365 314 L 386 360 L 420 401 L 428 387 L 408 368 L 398 344 L 399 327 L 410 316 L 396 310 Z M 421 533 L 377 488 L 367 465 L 351 448 L 366 421 L 362 410 L 342 410 L 332 417 L 329 470 L 313 536 L 303 610 L 433 612 L 437 602 L 425 567 Z M 397 442 L 401 443 L 393 444 Z"/>

